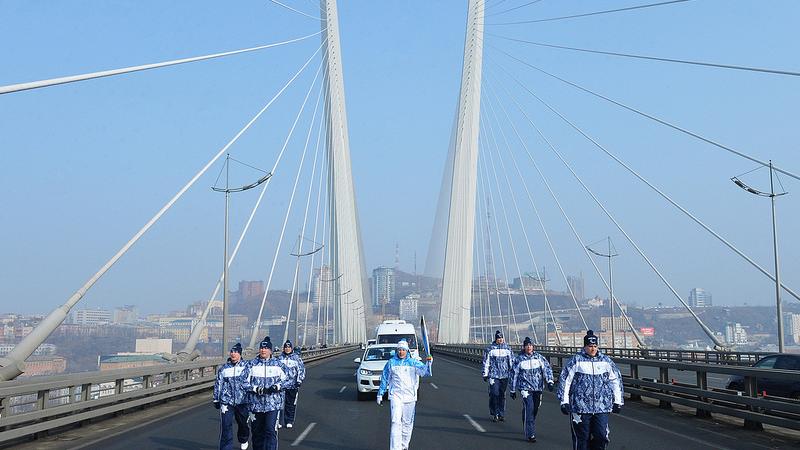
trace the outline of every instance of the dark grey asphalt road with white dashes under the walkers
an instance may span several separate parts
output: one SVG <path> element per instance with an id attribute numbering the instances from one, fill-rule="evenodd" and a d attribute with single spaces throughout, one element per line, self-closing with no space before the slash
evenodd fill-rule
<path id="1" fill-rule="evenodd" d="M 300 393 L 295 428 L 279 431 L 280 447 L 380 449 L 389 446 L 389 406 L 357 401 L 352 353 L 310 367 Z M 571 448 L 568 419 L 553 394 L 546 393 L 537 420 L 535 444 L 524 440 L 521 404 L 508 399 L 506 422 L 489 418 L 487 386 L 476 364 L 437 356 L 434 376 L 423 378 L 411 447 L 417 449 Z M 611 417 L 615 449 L 798 448 L 797 441 L 753 433 L 727 423 L 700 420 L 628 402 Z M 218 412 L 209 403 L 139 424 L 84 447 L 91 449 L 214 449 Z"/>

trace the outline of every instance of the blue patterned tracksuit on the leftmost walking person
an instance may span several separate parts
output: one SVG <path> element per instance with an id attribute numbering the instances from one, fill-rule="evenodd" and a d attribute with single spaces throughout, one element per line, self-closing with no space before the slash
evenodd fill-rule
<path id="1" fill-rule="evenodd" d="M 214 382 L 214 403 L 220 405 L 219 448 L 233 449 L 233 421 L 236 420 L 236 438 L 240 444 L 250 438 L 247 426 L 250 391 L 249 365 L 242 360 L 234 364 L 230 359 L 217 370 Z"/>

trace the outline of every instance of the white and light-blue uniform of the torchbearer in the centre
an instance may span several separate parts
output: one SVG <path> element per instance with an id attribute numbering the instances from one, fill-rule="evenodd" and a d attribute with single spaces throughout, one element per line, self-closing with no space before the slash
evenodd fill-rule
<path id="1" fill-rule="evenodd" d="M 383 394 L 389 392 L 391 401 L 392 428 L 389 439 L 390 450 L 407 449 L 414 430 L 414 409 L 417 405 L 419 377 L 431 376 L 431 362 L 423 363 L 411 357 L 408 343 L 401 340 L 398 348 L 405 346 L 406 357 L 395 356 L 383 367 L 381 386 L 378 389 L 378 404 Z"/>

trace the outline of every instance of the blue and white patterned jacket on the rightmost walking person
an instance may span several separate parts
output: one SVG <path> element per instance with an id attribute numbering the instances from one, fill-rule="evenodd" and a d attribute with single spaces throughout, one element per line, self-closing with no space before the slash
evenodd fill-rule
<path id="1" fill-rule="evenodd" d="M 623 404 L 622 393 L 617 365 L 599 351 L 594 358 L 581 351 L 561 369 L 558 399 L 569 403 L 574 413 L 611 412 L 614 403 Z"/>

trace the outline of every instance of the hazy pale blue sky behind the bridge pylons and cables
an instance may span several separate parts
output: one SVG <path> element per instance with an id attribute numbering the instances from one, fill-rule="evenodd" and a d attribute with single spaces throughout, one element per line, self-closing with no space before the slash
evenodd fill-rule
<path id="1" fill-rule="evenodd" d="M 310 15 L 318 12 L 314 1 L 287 3 Z M 491 108 L 500 116 L 503 108 L 509 111 L 582 237 L 587 242 L 612 237 L 620 253 L 614 268 L 620 299 L 677 305 L 538 138 L 505 88 L 513 91 L 513 98 L 681 296 L 703 287 L 714 295 L 715 303 L 772 304 L 774 289 L 766 277 L 543 108 L 506 71 L 771 272 L 769 200 L 747 194 L 729 180 L 756 164 L 536 73 L 500 50 L 754 157 L 771 158 L 793 172 L 800 172 L 800 77 L 568 52 L 496 35 L 800 71 L 796 29 L 800 4 L 695 0 L 570 20 L 500 25 L 647 2 L 544 0 L 506 13 L 502 12 L 528 2 L 492 3 L 487 14 L 495 15 L 486 19 L 486 31 L 493 35 L 486 36 L 483 96 L 484 137 L 491 150 L 482 153 L 492 155 L 499 168 L 494 133 L 511 171 L 513 196 L 505 192 L 502 174 L 499 178 L 510 238 L 498 193 L 493 193 L 508 276 L 518 276 L 511 243 L 518 250 L 521 271 L 533 270 L 512 206 L 516 201 L 537 263 L 547 268 L 554 288 L 564 288 L 522 181 L 510 169 L 502 133 L 511 142 L 565 271 L 584 274 L 587 294 L 603 293 L 508 121 L 495 120 Z M 366 265 L 371 270 L 393 264 L 398 243 L 401 268 L 413 269 L 416 252 L 422 271 L 459 90 L 466 2 L 344 0 L 339 13 Z M 269 1 L 0 0 L 0 42 L 5 43 L 0 84 L 234 50 L 317 30 L 319 21 Z M 214 61 L 0 96 L 0 151 L 5 162 L 0 177 L 4 199 L 0 285 L 5 287 L 0 309 L 45 312 L 63 302 L 266 104 L 319 44 L 319 38 L 311 38 Z M 315 58 L 231 148 L 234 158 L 263 169 L 272 167 L 319 62 Z M 267 278 L 317 92 L 314 88 L 232 268 L 234 281 Z M 315 131 L 273 288 L 291 285 L 294 259 L 288 246 L 302 227 Z M 223 198 L 209 189 L 220 167 L 214 165 L 81 304 L 133 303 L 149 312 L 206 299 L 222 266 Z M 232 183 L 258 176 L 234 166 Z M 769 187 L 766 170 L 743 179 L 762 190 Z M 781 180 L 790 192 L 778 201 L 782 276 L 787 285 L 800 290 L 796 233 L 800 192 L 797 180 L 787 176 Z M 313 189 L 307 236 L 313 229 L 316 185 Z M 233 198 L 232 240 L 257 195 L 247 192 Z M 493 240 L 498 241 L 497 235 Z M 495 260 L 496 272 L 504 276 L 499 248 Z"/>

